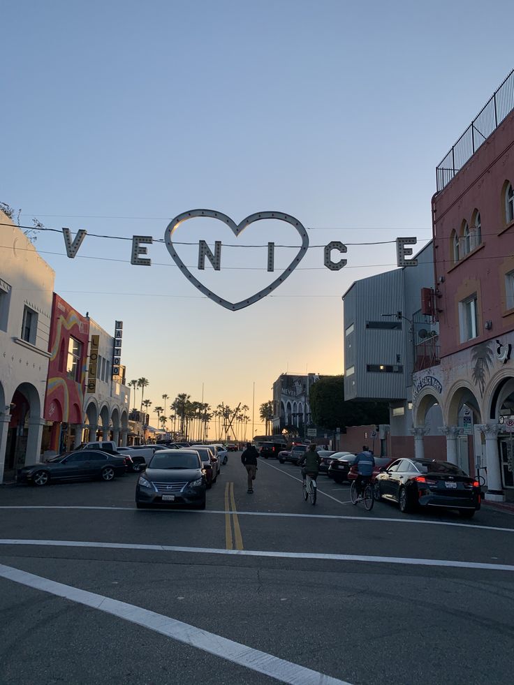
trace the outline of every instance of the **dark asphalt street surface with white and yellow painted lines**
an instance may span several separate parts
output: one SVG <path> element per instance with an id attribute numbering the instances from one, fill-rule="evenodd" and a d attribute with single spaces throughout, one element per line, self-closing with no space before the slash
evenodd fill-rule
<path id="1" fill-rule="evenodd" d="M 402 515 L 231 453 L 207 510 L 0 488 L 0 684 L 511 684 L 514 516 Z"/>

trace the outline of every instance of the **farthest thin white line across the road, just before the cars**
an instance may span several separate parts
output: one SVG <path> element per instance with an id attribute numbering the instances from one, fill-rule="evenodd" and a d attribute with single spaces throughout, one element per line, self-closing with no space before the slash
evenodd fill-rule
<path id="1" fill-rule="evenodd" d="M 57 510 L 87 510 L 87 511 L 131 511 L 135 513 L 133 507 L 94 507 L 94 506 L 1 506 L 2 509 L 57 509 Z M 161 513 L 166 512 L 168 515 L 173 514 L 193 514 L 193 515 L 206 515 L 206 514 L 227 514 L 226 510 L 219 509 L 206 509 L 205 511 L 189 511 L 186 509 L 174 509 L 170 510 L 168 508 L 154 508 L 154 511 L 159 511 Z M 466 528 L 473 531 L 500 531 L 501 533 L 514 533 L 514 528 L 502 528 L 501 526 L 481 526 L 479 524 L 473 523 L 452 523 L 450 521 L 429 521 L 423 519 L 411 519 L 411 518 L 398 518 L 393 519 L 392 517 L 381 516 L 377 517 L 375 515 L 366 516 L 345 516 L 342 514 L 295 514 L 288 512 L 273 512 L 273 511 L 238 511 L 240 516 L 277 516 L 286 518 L 308 518 L 308 519 L 333 519 L 341 521 L 362 521 L 367 523 L 407 523 L 407 524 L 421 524 L 427 526 L 450 526 L 454 528 Z M 228 512 L 231 516 L 232 512 Z"/>

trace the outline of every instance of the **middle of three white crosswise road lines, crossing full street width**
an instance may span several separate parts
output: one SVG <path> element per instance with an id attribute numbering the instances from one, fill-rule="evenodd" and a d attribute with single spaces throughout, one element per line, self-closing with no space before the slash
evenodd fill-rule
<path id="1" fill-rule="evenodd" d="M 91 547 L 103 550 L 145 550 L 152 552 L 186 552 L 188 554 L 227 554 L 241 557 L 274 559 L 318 559 L 321 561 L 365 561 L 369 564 L 400 564 L 404 566 L 445 566 L 447 568 L 478 568 L 505 570 L 514 573 L 511 564 L 485 564 L 482 561 L 452 559 L 417 559 L 416 557 L 378 557 L 366 554 L 329 554 L 326 552 L 268 552 L 267 550 L 221 550 L 215 547 L 182 547 L 180 545 L 145 545 L 138 543 L 100 543 L 81 540 L 0 540 L 0 545 L 35 545 L 37 547 Z"/>

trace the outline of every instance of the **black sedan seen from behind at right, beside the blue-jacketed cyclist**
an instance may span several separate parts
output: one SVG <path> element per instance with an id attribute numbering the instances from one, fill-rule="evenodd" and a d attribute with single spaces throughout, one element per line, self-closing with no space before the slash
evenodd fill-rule
<path id="1" fill-rule="evenodd" d="M 375 479 L 375 499 L 399 504 L 403 512 L 418 506 L 458 509 L 471 518 L 478 509 L 480 483 L 450 462 L 436 459 L 397 459 Z"/>

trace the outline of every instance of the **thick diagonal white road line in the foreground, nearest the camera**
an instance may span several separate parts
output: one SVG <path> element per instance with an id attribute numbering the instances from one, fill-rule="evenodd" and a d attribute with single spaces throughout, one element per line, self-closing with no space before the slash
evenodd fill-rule
<path id="1" fill-rule="evenodd" d="M 149 628 L 155 633 L 166 635 L 166 637 L 182 642 L 184 645 L 196 647 L 226 661 L 237 663 L 279 682 L 290 683 L 291 685 L 350 685 L 343 680 L 267 654 L 265 651 L 247 647 L 241 642 L 228 640 L 228 638 L 222 638 L 221 635 L 203 631 L 201 628 L 177 621 L 177 619 L 172 619 L 164 614 L 157 614 L 137 605 L 120 602 L 95 592 L 55 582 L 12 566 L 0 564 L 0 577 L 68 599 L 77 604 L 98 609 L 143 628 Z"/>

